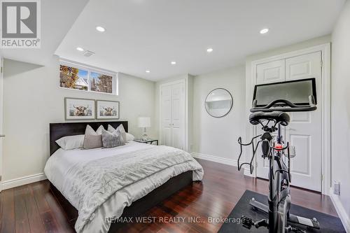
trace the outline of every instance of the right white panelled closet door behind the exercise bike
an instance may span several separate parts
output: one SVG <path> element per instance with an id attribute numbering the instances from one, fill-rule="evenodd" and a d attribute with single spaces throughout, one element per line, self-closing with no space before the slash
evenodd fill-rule
<path id="1" fill-rule="evenodd" d="M 286 59 L 286 79 L 316 78 L 317 110 L 289 113 L 286 141 L 295 146 L 290 160 L 292 185 L 321 191 L 321 52 Z"/>

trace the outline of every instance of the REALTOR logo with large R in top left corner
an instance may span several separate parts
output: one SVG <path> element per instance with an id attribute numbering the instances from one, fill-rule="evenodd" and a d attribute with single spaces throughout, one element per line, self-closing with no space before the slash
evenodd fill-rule
<path id="1" fill-rule="evenodd" d="M 1 0 L 1 48 L 40 48 L 40 0 Z"/>

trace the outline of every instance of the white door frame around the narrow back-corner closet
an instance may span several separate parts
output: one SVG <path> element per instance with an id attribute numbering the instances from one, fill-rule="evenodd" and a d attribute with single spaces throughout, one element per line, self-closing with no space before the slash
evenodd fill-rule
<path id="1" fill-rule="evenodd" d="M 186 85 L 186 78 L 172 81 L 169 83 L 162 83 L 159 85 L 159 142 L 162 145 L 162 87 L 167 85 L 174 84 L 183 84 L 184 93 L 185 93 L 185 104 L 183 107 L 185 108 L 185 150 L 188 151 L 188 84 Z"/>

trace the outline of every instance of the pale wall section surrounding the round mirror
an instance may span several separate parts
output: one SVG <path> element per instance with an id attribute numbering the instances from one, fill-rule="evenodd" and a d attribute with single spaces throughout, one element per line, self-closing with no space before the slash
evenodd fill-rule
<path id="1" fill-rule="evenodd" d="M 223 118 L 213 118 L 207 113 L 204 101 L 215 88 L 228 90 L 233 97 L 233 107 Z M 245 108 L 244 66 L 235 66 L 195 76 L 193 82 L 193 152 L 200 156 L 223 158 L 235 164 L 239 153 L 237 139 L 244 135 L 244 122 L 248 120 Z"/>

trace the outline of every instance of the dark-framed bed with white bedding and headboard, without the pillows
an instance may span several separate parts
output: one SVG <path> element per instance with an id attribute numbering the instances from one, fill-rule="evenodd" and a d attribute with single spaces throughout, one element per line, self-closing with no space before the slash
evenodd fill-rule
<path id="1" fill-rule="evenodd" d="M 50 124 L 45 174 L 76 232 L 114 232 L 116 218 L 139 216 L 162 200 L 201 181 L 203 169 L 188 153 L 130 141 L 117 148 L 63 150 L 55 141 L 84 134 L 87 125 L 116 128 L 118 122 Z"/>

